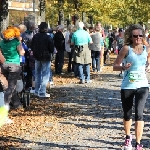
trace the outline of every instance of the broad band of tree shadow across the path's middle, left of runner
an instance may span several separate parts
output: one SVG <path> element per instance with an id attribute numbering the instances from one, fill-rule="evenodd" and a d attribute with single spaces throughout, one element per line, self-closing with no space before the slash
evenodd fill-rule
<path id="1" fill-rule="evenodd" d="M 85 115 L 98 118 L 120 118 L 122 116 L 120 116 L 121 101 L 119 92 L 76 85 L 73 87 L 55 87 L 51 89 L 51 98 L 34 98 L 31 106 L 19 113 L 19 110 L 12 110 L 11 115 L 20 117 L 30 114 L 32 116 L 53 115 L 58 118 Z"/>

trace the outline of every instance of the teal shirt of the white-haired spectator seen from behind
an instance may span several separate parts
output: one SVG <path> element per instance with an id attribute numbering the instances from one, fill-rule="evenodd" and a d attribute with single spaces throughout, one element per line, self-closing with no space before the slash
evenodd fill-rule
<path id="1" fill-rule="evenodd" d="M 90 34 L 83 29 L 78 29 L 74 32 L 71 39 L 71 43 L 74 43 L 74 45 L 86 45 L 91 41 Z"/>

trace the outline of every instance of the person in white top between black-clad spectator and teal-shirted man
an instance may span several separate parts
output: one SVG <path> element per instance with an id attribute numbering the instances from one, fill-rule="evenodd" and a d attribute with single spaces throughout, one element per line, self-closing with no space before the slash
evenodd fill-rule
<path id="1" fill-rule="evenodd" d="M 69 61 L 68 61 L 68 73 L 73 72 L 73 66 L 72 66 L 72 58 L 73 53 L 71 51 L 70 43 L 71 43 L 71 34 L 72 34 L 73 26 L 69 25 L 67 33 L 65 35 L 65 49 L 68 53 Z"/>

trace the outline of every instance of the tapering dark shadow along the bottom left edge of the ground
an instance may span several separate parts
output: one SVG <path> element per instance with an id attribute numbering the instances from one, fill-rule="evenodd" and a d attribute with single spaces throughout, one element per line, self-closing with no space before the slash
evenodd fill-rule
<path id="1" fill-rule="evenodd" d="M 5 142 L 9 143 L 19 143 L 18 146 L 13 146 L 13 144 L 6 144 Z M 0 137 L 0 149 L 1 150 L 33 150 L 33 149 L 38 149 L 38 150 L 43 150 L 44 149 L 51 149 L 51 148 L 61 148 L 61 149 L 68 149 L 68 150 L 80 150 L 81 148 L 100 148 L 98 146 L 92 147 L 92 146 L 83 146 L 83 145 L 78 145 L 78 144 L 57 144 L 53 142 L 35 142 L 31 140 L 24 140 L 22 138 L 16 138 L 12 136 L 7 136 L 7 137 Z M 3 146 L 2 146 L 3 145 Z M 29 147 L 29 148 L 25 148 Z M 31 148 L 30 148 L 31 147 Z M 40 148 L 41 147 L 41 148 Z"/>

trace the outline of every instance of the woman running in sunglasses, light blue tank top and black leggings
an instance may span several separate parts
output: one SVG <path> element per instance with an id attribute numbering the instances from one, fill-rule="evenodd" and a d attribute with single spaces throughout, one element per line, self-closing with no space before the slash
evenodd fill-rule
<path id="1" fill-rule="evenodd" d="M 145 32 L 141 25 L 130 25 L 124 33 L 124 46 L 115 60 L 113 70 L 124 70 L 121 85 L 123 123 L 126 134 L 124 150 L 132 150 L 132 107 L 135 98 L 135 150 L 142 150 L 143 110 L 149 93 L 146 72 L 150 71 L 150 47 L 143 44 Z M 120 66 L 124 60 L 123 66 Z M 148 63 L 147 68 L 146 63 Z"/>

